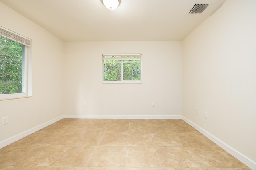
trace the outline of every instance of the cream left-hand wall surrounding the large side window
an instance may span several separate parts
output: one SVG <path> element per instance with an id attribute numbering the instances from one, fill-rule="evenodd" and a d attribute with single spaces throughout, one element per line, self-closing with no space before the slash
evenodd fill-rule
<path id="1" fill-rule="evenodd" d="M 0 141 L 62 115 L 63 42 L 0 2 L 0 25 L 32 39 L 32 97 L 0 101 Z"/>

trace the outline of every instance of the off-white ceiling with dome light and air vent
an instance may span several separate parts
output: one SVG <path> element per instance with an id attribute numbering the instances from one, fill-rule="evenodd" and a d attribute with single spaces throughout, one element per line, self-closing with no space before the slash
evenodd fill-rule
<path id="1" fill-rule="evenodd" d="M 182 40 L 226 0 L 0 0 L 63 41 Z M 210 5 L 188 14 L 196 3 Z"/>

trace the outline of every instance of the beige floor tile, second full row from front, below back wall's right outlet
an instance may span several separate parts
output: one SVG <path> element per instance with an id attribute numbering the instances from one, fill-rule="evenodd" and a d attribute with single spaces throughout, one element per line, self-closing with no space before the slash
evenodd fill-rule
<path id="1" fill-rule="evenodd" d="M 180 139 L 174 133 L 152 133 L 154 146 L 178 147 L 182 146 Z"/>

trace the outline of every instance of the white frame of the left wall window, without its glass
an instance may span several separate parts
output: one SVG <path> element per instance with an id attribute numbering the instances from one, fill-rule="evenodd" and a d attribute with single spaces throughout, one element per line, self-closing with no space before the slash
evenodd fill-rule
<path id="1" fill-rule="evenodd" d="M 28 47 L 30 47 L 31 39 L 15 33 L 9 29 L 0 26 L 0 36 L 6 37 L 12 41 L 23 44 L 23 68 L 22 68 L 22 93 L 0 94 L 0 100 L 9 100 L 14 98 L 24 98 L 31 96 L 31 80 L 28 77 Z"/>

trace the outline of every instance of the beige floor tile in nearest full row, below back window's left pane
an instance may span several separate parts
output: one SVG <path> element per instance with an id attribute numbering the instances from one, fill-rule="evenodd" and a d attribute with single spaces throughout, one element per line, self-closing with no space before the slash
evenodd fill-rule
<path id="1" fill-rule="evenodd" d="M 99 146 L 86 167 L 123 167 L 125 147 Z"/>

